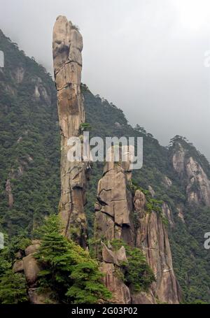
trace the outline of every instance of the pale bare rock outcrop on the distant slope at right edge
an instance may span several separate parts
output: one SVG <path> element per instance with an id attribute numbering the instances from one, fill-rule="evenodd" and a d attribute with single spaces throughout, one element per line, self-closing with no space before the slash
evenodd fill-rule
<path id="1" fill-rule="evenodd" d="M 210 206 L 210 180 L 202 166 L 181 143 L 176 143 L 172 164 L 186 186 L 188 202 Z"/>

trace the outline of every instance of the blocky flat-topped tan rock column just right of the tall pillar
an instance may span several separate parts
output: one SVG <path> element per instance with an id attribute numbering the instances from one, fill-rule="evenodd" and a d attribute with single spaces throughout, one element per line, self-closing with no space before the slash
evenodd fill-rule
<path id="1" fill-rule="evenodd" d="M 132 194 L 127 188 L 130 170 L 115 162 L 107 162 L 99 180 L 95 204 L 95 238 L 124 240 L 134 245 Z"/>

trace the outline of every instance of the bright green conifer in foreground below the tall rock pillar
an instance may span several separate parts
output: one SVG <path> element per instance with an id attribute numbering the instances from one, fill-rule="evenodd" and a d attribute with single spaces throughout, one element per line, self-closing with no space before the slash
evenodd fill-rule
<path id="1" fill-rule="evenodd" d="M 88 252 L 61 234 L 59 217 L 52 215 L 41 227 L 41 247 L 36 259 L 41 265 L 40 291 L 50 291 L 51 301 L 59 303 L 98 303 L 110 292 L 102 284 L 97 261 Z M 50 301 L 50 300 L 49 300 Z"/>

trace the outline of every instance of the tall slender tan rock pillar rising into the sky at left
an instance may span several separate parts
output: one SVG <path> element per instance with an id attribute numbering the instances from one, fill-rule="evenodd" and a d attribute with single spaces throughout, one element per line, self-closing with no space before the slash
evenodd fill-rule
<path id="1" fill-rule="evenodd" d="M 57 87 L 57 106 L 61 131 L 61 184 L 59 215 L 64 235 L 85 247 L 87 223 L 84 212 L 87 162 L 69 161 L 69 138 L 80 138 L 85 122 L 83 95 L 80 92 L 83 38 L 66 17 L 59 16 L 53 29 L 53 61 Z"/>

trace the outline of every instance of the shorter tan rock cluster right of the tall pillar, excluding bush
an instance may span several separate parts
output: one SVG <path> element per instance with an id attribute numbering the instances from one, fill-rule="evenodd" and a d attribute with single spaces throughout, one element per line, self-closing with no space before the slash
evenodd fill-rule
<path id="1" fill-rule="evenodd" d="M 115 238 L 128 245 L 139 247 L 153 269 L 156 282 L 151 290 L 132 294 L 118 276 L 120 261 L 116 253 L 103 245 L 102 271 L 106 287 L 113 293 L 116 303 L 179 303 L 181 293 L 172 264 L 167 229 L 158 212 L 146 212 L 146 196 L 137 189 L 132 195 L 129 165 L 106 163 L 104 175 L 99 181 L 95 205 L 94 237 L 111 241 Z M 128 175 L 127 175 L 128 174 Z M 151 189 L 152 191 L 152 189 Z M 152 191 L 153 192 L 153 191 Z M 153 192 L 154 195 L 154 192 Z M 173 225 L 172 211 L 167 203 L 162 205 L 162 215 Z M 123 252 L 123 247 L 121 247 Z M 126 259 L 126 253 L 124 259 Z"/>

